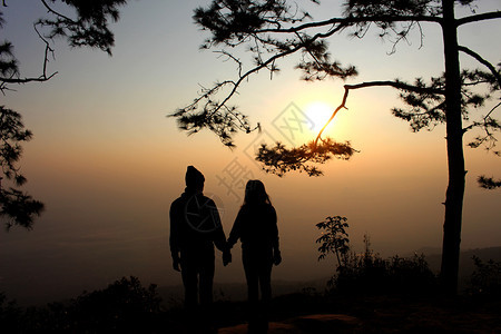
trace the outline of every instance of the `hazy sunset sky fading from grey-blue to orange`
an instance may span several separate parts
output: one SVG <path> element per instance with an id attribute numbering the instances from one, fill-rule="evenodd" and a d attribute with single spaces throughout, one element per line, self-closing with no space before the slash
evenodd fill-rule
<path id="1" fill-rule="evenodd" d="M 45 46 L 32 22 L 45 10 L 38 1 L 7 2 L 2 39 L 13 42 L 21 75 L 39 76 Z M 324 2 L 322 10 L 312 10 L 315 19 L 338 12 L 341 1 Z M 479 12 L 501 7 L 494 0 L 480 2 Z M 233 102 L 264 131 L 237 135 L 236 149 L 224 147 L 210 132 L 187 137 L 176 128 L 166 115 L 188 105 L 202 86 L 236 76 L 234 63 L 198 48 L 207 36 L 194 24 L 193 9 L 208 3 L 130 1 L 112 24 L 112 57 L 71 50 L 58 40 L 49 71 L 59 73 L 45 84 L 14 87 L 17 91 L 1 97 L 0 105 L 21 112 L 35 132 L 20 161 L 28 178 L 23 189 L 47 207 L 33 230 L 14 227 L 0 233 L 0 291 L 9 297 L 49 302 L 129 275 L 144 284 L 180 284 L 168 250 L 168 210 L 184 190 L 188 165 L 205 175 L 205 194 L 219 206 L 226 234 L 242 205 L 245 177 L 264 181 L 278 214 L 284 258 L 274 268 L 274 279 L 333 274 L 334 262 L 316 259 L 315 224 L 326 216 L 348 218 L 354 250 L 362 250 L 364 234 L 384 256 L 441 247 L 445 129 L 413 134 L 391 115 L 393 106 L 401 106 L 393 89 L 351 92 L 348 110 L 340 111 L 326 134 L 350 140 L 360 153 L 348 161 L 322 166 L 324 176 L 317 178 L 297 173 L 278 178 L 263 173 L 252 159 L 262 141 L 301 145 L 313 139 L 323 121 L 317 114 L 328 118 L 318 110 L 333 109 L 341 101 L 342 81 L 301 81 L 301 72 L 293 69 L 297 59 L 278 63 L 282 72 L 273 80 L 263 72 L 242 87 Z M 424 23 L 422 28 L 421 48 L 414 33 L 392 56 L 387 55 L 392 45 L 379 40 L 376 30 L 362 40 L 337 36 L 331 40 L 331 51 L 334 59 L 357 66 L 360 76 L 352 84 L 428 79 L 443 71 L 443 55 L 438 27 Z M 473 23 L 460 29 L 460 43 L 498 63 L 501 47 L 492 37 L 499 36 L 499 20 Z M 461 63 L 474 65 L 464 56 Z M 310 121 L 313 130 L 287 132 L 283 125 L 291 112 Z M 472 137 L 468 134 L 465 141 Z M 501 158 L 481 148 L 464 151 L 462 248 L 500 246 L 501 191 L 481 189 L 475 179 L 482 174 L 501 177 Z M 228 171 L 235 167 L 240 176 L 230 183 Z M 228 267 L 217 258 L 215 281 L 244 282 L 238 247 Z"/>

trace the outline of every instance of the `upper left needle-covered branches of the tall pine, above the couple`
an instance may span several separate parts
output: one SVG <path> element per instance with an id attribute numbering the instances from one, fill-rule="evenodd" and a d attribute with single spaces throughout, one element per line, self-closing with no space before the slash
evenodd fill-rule
<path id="1" fill-rule="evenodd" d="M 234 49 L 248 45 L 248 50 L 254 55 L 255 67 L 244 71 L 244 63 L 237 57 L 225 49 L 219 50 L 218 53 L 223 58 L 236 63 L 238 77 L 235 80 L 216 82 L 209 89 L 203 88 L 193 104 L 170 115 L 177 118 L 179 128 L 186 130 L 188 135 L 208 129 L 216 134 L 224 145 L 235 146 L 233 137 L 236 131 L 250 132 L 258 129 L 259 125 L 252 127 L 244 114 L 237 111 L 235 106 L 228 106 L 229 99 L 237 94 L 238 87 L 250 75 L 261 70 L 267 70 L 272 76 L 278 72 L 279 68 L 275 60 L 287 55 L 301 52 L 302 60 L 297 68 L 304 72 L 305 80 L 322 80 L 328 76 L 343 79 L 356 76 L 356 69 L 353 66 L 344 67 L 331 60 L 327 43 L 321 40 L 322 37 L 326 37 L 325 35 L 310 36 L 303 31 L 293 33 L 293 38 L 279 38 L 272 35 L 275 31 L 284 32 L 286 27 L 304 22 L 310 18 L 310 14 L 297 4 L 291 4 L 284 0 L 215 0 L 207 8 L 197 8 L 194 14 L 195 22 L 212 35 L 202 48 L 222 46 Z M 334 29 L 328 35 L 335 31 L 337 30 Z M 223 96 L 222 99 L 218 98 L 219 95 Z M 271 171 L 274 169 L 272 168 Z M 297 167 L 289 170 L 295 169 Z M 299 170 L 304 169 L 299 168 Z"/>

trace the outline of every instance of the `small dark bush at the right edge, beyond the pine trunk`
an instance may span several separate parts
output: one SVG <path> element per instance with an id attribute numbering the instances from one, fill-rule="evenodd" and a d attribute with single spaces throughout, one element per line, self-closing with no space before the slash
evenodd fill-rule
<path id="1" fill-rule="evenodd" d="M 473 256 L 475 271 L 471 274 L 469 293 L 472 295 L 501 296 L 501 262 L 493 259 L 487 263 Z"/>

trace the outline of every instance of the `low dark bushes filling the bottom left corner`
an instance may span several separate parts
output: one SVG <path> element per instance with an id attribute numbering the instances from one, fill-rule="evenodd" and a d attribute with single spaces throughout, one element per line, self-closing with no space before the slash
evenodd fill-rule
<path id="1" fill-rule="evenodd" d="M 156 285 L 143 287 L 132 276 L 46 307 L 23 310 L 0 295 L 1 330 L 11 330 L 6 333 L 154 333 L 159 313 Z"/>

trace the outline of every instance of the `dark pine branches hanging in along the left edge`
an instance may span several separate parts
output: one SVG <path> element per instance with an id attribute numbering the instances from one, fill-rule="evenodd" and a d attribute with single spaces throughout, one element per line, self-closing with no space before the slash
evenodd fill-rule
<path id="1" fill-rule="evenodd" d="M 0 7 L 0 30 L 6 21 L 3 11 L 8 10 L 8 1 Z M 50 80 L 57 72 L 49 73 L 49 58 L 53 57 L 55 38 L 65 38 L 70 47 L 98 48 L 111 56 L 115 43 L 114 33 L 109 30 L 109 22 L 117 21 L 119 8 L 126 0 L 40 0 L 47 9 L 46 16 L 33 22 L 35 33 L 45 43 L 41 62 L 41 73 L 38 77 L 23 77 L 16 58 L 13 45 L 6 40 L 0 43 L 0 92 L 6 95 L 13 90 L 13 85 L 28 82 L 43 82 Z M 63 14 L 63 12 L 72 12 Z M 16 163 L 22 154 L 23 141 L 32 138 L 30 130 L 24 129 L 21 115 L 0 106 L 0 163 L 3 176 L 12 180 L 14 186 L 21 186 L 26 178 L 20 174 Z M 0 177 L 0 179 L 2 179 Z M 6 227 L 14 225 L 32 228 L 33 219 L 43 210 L 43 204 L 19 189 L 8 189 L 0 183 L 0 216 L 4 217 Z"/>

